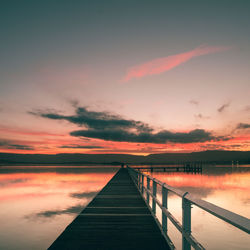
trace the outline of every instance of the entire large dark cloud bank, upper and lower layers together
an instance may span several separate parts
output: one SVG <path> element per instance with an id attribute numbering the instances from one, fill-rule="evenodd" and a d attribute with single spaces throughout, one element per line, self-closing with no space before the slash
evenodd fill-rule
<path id="1" fill-rule="evenodd" d="M 203 129 L 195 129 L 183 133 L 162 130 L 155 133 L 152 127 L 141 121 L 126 120 L 109 112 L 88 111 L 85 107 L 76 107 L 75 115 L 71 116 L 42 111 L 32 112 L 32 114 L 53 120 L 66 120 L 79 126 L 84 126 L 84 129 L 70 133 L 70 135 L 81 137 L 82 139 L 95 138 L 106 141 L 139 143 L 192 143 L 225 139 L 213 136 L 211 132 Z"/>

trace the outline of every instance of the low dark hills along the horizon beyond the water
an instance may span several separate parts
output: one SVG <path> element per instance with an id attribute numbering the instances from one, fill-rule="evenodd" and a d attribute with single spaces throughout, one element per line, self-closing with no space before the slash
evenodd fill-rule
<path id="1" fill-rule="evenodd" d="M 0 164 L 173 164 L 181 162 L 250 164 L 250 151 L 202 151 L 137 156 L 129 154 L 11 154 L 0 153 Z"/>

